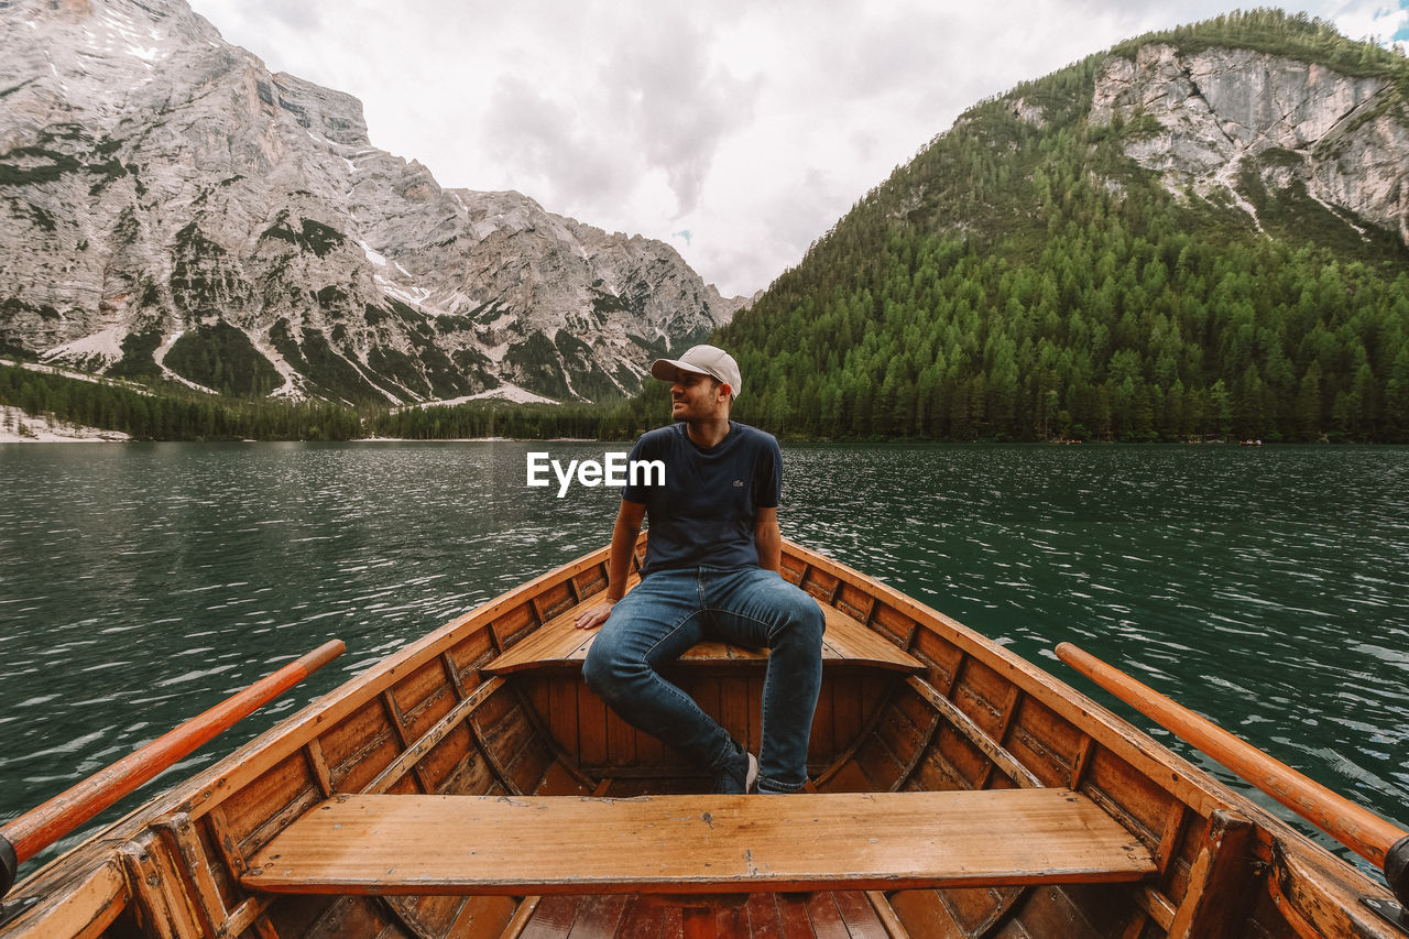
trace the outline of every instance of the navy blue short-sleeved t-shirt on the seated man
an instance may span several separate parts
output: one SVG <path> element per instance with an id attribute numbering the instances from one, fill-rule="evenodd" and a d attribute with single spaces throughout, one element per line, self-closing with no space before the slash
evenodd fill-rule
<path id="1" fill-rule="evenodd" d="M 623 499 L 645 506 L 651 522 L 643 575 L 682 567 L 758 567 L 754 516 L 778 508 L 783 455 L 772 434 L 735 422 L 728 427 L 707 450 L 690 440 L 683 423 L 647 431 L 631 448 L 631 462 L 665 464 L 665 485 L 644 485 L 659 477 L 637 471 L 621 489 Z"/>

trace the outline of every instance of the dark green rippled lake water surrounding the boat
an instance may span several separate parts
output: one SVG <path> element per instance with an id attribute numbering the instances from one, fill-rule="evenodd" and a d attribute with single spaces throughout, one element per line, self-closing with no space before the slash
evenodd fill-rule
<path id="1" fill-rule="evenodd" d="M 604 544 L 617 493 L 530 489 L 530 450 L 603 453 L 0 447 L 0 821 L 347 642 L 187 774 Z M 789 446 L 785 464 L 788 537 L 1109 704 L 1051 657 L 1075 642 L 1409 825 L 1409 448 Z"/>

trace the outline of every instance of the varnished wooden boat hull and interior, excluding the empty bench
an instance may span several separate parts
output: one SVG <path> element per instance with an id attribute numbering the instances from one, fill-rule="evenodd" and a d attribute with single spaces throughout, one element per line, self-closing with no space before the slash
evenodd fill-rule
<path id="1" fill-rule="evenodd" d="M 1392 902 L 1382 884 L 1031 663 L 800 546 L 785 546 L 783 567 L 841 637 L 824 668 L 810 788 L 1069 788 L 1115 819 L 1153 871 L 1123 883 L 745 884 L 731 901 L 685 895 L 683 881 L 679 894 L 620 883 L 528 895 L 249 887 L 261 850 L 340 794 L 700 791 L 672 750 L 602 705 L 572 653 L 542 651 L 564 615 L 604 589 L 603 548 L 411 643 L 51 861 L 7 898 L 24 911 L 0 935 L 1405 935 L 1361 902 Z M 867 647 L 876 639 L 896 656 Z M 672 674 L 757 747 L 761 656 L 704 650 Z"/>

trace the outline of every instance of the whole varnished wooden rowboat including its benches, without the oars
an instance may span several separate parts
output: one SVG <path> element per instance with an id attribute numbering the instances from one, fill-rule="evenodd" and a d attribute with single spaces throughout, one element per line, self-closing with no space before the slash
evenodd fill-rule
<path id="1" fill-rule="evenodd" d="M 1409 935 L 1378 878 L 790 543 L 786 577 L 827 613 L 809 791 L 697 795 L 582 682 L 571 620 L 606 558 L 447 623 L 51 861 L 0 935 Z M 762 653 L 709 644 L 674 673 L 751 749 L 762 675 Z"/>

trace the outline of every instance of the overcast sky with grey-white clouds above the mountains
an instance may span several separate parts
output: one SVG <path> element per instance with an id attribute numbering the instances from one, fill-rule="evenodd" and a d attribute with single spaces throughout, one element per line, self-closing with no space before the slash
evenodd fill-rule
<path id="1" fill-rule="evenodd" d="M 796 264 L 974 102 L 1237 0 L 192 0 L 359 97 L 442 186 L 669 241 L 727 295 Z M 1254 6 L 1244 3 L 1241 6 Z M 1286 4 L 1409 49 L 1409 0 Z"/>

